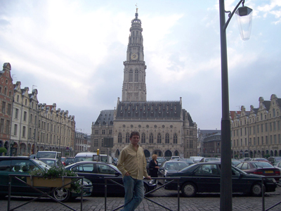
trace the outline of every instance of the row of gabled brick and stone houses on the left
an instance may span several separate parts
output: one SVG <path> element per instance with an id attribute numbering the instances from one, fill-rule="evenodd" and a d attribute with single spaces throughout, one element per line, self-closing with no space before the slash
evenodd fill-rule
<path id="1" fill-rule="evenodd" d="M 13 84 L 11 64 L 0 72 L 0 147 L 7 155 L 31 155 L 37 151 L 60 151 L 72 155 L 74 150 L 74 115 L 67 110 L 39 103 L 38 91 Z"/>

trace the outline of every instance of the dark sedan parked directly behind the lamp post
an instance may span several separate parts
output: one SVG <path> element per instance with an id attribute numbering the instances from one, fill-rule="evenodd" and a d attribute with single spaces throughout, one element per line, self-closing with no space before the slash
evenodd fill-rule
<path id="1" fill-rule="evenodd" d="M 233 193 L 251 193 L 253 196 L 261 196 L 261 175 L 247 174 L 232 166 Z M 220 193 L 221 163 L 199 162 L 190 165 L 178 172 L 168 172 L 167 177 L 181 177 L 180 188 L 183 196 L 192 197 L 196 193 Z M 266 192 L 273 192 L 276 188 L 275 179 L 265 180 Z M 168 190 L 177 190 L 178 181 L 165 186 Z"/>

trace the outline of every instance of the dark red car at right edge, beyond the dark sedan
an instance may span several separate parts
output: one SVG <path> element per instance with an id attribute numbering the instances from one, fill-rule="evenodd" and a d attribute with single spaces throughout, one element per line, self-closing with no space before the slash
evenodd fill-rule
<path id="1" fill-rule="evenodd" d="M 268 162 L 262 161 L 245 161 L 240 162 L 236 166 L 238 169 L 249 174 L 259 174 L 263 176 L 280 176 L 280 170 Z M 279 181 L 279 178 L 275 177 L 275 180 Z"/>

